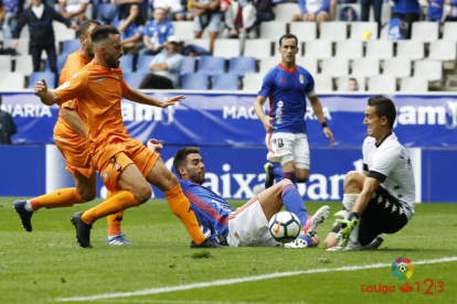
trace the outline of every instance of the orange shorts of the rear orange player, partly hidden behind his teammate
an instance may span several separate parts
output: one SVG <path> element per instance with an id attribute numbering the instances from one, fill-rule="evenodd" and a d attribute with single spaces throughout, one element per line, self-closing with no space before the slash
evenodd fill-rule
<path id="1" fill-rule="evenodd" d="M 57 121 L 54 128 L 54 141 L 65 159 L 66 170 L 74 176 L 83 174 L 89 178 L 95 169 L 89 155 L 88 141 L 70 127 L 65 127 Z"/>

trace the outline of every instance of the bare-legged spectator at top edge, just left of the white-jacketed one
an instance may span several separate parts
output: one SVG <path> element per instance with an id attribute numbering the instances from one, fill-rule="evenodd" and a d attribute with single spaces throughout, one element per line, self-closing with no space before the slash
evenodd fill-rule
<path id="1" fill-rule="evenodd" d="M 201 39 L 203 30 L 209 26 L 211 39 L 211 53 L 214 50 L 214 41 L 217 37 L 219 25 L 221 24 L 220 0 L 192 0 L 192 8 L 195 9 L 193 19 L 193 31 L 195 39 Z"/>

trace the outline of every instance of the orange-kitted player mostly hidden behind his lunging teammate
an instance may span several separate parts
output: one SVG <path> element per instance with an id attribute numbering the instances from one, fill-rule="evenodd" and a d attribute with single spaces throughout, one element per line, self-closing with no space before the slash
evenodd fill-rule
<path id="1" fill-rule="evenodd" d="M 76 74 L 94 58 L 91 33 L 100 25 L 96 20 L 87 20 L 79 28 L 81 48 L 68 55 L 61 72 L 60 84 L 63 85 L 72 75 Z M 66 169 L 72 173 L 76 187 L 63 188 L 30 200 L 14 202 L 14 209 L 21 217 L 22 226 L 32 231 L 31 217 L 40 208 L 71 207 L 74 204 L 91 202 L 97 194 L 97 176 L 91 164 L 88 140 L 85 127 L 78 116 L 77 99 L 60 102 L 59 119 L 54 128 L 54 140 L 66 161 Z M 75 127 L 70 127 L 71 121 Z M 110 193 L 108 192 L 108 197 Z M 108 237 L 105 243 L 134 245 L 127 240 L 120 230 L 124 211 L 108 216 Z"/>

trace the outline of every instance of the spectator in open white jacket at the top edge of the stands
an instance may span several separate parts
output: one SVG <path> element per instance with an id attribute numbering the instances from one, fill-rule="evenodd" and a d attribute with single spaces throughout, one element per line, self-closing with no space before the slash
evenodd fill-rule
<path id="1" fill-rule="evenodd" d="M 228 29 L 224 37 L 240 39 L 240 54 L 244 52 L 246 35 L 254 29 L 257 12 L 247 0 L 233 1 L 224 13 L 225 26 Z"/>

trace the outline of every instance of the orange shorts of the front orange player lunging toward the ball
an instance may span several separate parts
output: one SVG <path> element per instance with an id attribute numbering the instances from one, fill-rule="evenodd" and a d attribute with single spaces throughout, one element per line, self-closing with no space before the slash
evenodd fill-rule
<path id="1" fill-rule="evenodd" d="M 94 154 L 102 181 L 106 188 L 114 192 L 120 173 L 129 164 L 135 164 L 142 176 L 148 176 L 160 154 L 153 152 L 137 140 L 114 140 L 104 144 Z"/>

